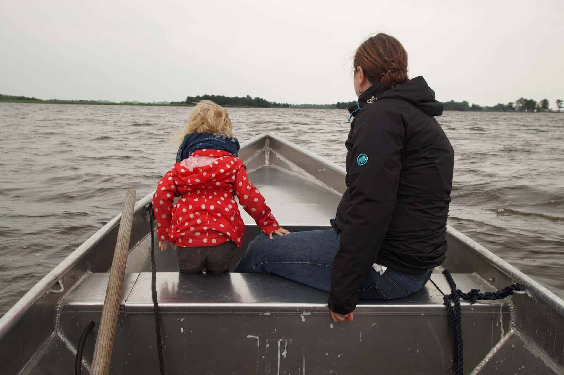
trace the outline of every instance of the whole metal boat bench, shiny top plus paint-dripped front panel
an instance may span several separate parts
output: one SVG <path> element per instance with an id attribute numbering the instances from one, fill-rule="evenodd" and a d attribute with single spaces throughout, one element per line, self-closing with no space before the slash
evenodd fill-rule
<path id="1" fill-rule="evenodd" d="M 72 345 L 91 320 L 98 327 L 108 275 L 86 274 L 60 301 L 60 331 Z M 464 291 L 491 290 L 473 274 L 453 278 Z M 452 367 L 443 303 L 443 293 L 450 292 L 442 274 L 433 274 L 412 296 L 360 300 L 354 322 L 340 324 L 329 318 L 328 293 L 275 275 L 158 273 L 156 288 L 170 368 L 200 374 L 305 374 L 305 368 L 311 374 L 410 373 L 417 368 L 440 374 Z M 468 368 L 508 332 L 509 302 L 461 302 Z M 112 373 L 158 373 L 154 319 L 151 273 L 127 273 Z M 87 360 L 94 340 L 91 334 Z"/>

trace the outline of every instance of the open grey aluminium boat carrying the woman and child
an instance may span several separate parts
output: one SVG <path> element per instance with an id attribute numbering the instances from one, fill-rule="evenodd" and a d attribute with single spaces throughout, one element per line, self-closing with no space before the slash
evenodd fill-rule
<path id="1" fill-rule="evenodd" d="M 241 147 L 250 179 L 290 231 L 328 229 L 345 170 L 272 133 Z M 152 194 L 135 203 L 110 373 L 159 373 L 151 299 Z M 233 265 L 260 230 L 246 235 Z M 98 327 L 121 215 L 70 253 L 0 318 L 2 374 L 70 374 L 81 332 Z M 328 293 L 268 274 L 178 272 L 156 252 L 162 352 L 169 374 L 449 374 L 453 335 L 444 296 L 450 270 L 461 291 L 521 292 L 460 301 L 465 374 L 564 374 L 564 301 L 451 226 L 448 253 L 411 296 L 360 300 L 354 322 L 334 324 Z M 450 303 L 450 302 L 449 302 Z M 96 340 L 86 338 L 88 373 Z M 80 366 L 79 366 L 80 367 Z"/>

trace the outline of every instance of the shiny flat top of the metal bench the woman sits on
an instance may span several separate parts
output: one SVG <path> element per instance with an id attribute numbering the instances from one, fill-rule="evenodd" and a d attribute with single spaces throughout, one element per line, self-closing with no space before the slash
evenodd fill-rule
<path id="1" fill-rule="evenodd" d="M 61 301 L 64 312 L 102 311 L 109 273 L 90 273 L 83 276 L 80 284 Z M 472 288 L 491 290 L 482 279 L 473 274 L 453 274 L 457 288 L 468 291 Z M 292 312 L 294 307 L 302 310 L 327 309 L 329 293 L 302 285 L 280 276 L 260 273 L 224 273 L 194 275 L 179 272 L 157 273 L 156 288 L 161 312 L 234 311 L 245 312 L 270 310 Z M 417 311 L 444 312 L 444 294 L 450 294 L 444 275 L 435 272 L 421 291 L 398 300 L 360 299 L 356 312 Z M 505 303 L 504 303 L 505 302 Z M 485 311 L 492 308 L 499 312 L 507 301 L 481 301 L 471 305 L 461 301 L 462 311 Z M 121 311 L 125 314 L 152 311 L 151 273 L 126 273 L 124 279 Z M 437 310 L 438 311 L 435 311 Z M 264 310 L 264 311 L 263 311 Z M 288 311 L 287 311 L 288 310 Z M 299 314 L 298 314 L 299 315 Z"/>

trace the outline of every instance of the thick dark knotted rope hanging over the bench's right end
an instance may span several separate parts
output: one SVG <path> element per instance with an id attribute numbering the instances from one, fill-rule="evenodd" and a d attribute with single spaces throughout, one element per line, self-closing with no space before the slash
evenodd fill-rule
<path id="1" fill-rule="evenodd" d="M 480 293 L 480 289 L 472 289 L 468 293 L 463 293 L 460 289 L 456 289 L 455 280 L 452 279 L 450 271 L 445 269 L 444 276 L 448 280 L 451 287 L 452 294 L 446 294 L 443 297 L 444 304 L 447 306 L 448 317 L 451 320 L 452 331 L 452 346 L 453 346 L 453 365 L 452 372 L 455 375 L 462 375 L 464 373 L 464 352 L 462 350 L 462 322 L 460 320 L 460 300 L 469 300 L 474 303 L 478 300 L 501 300 L 513 294 L 514 291 L 519 290 L 517 284 L 509 285 L 497 292 Z M 454 302 L 454 306 L 452 303 Z"/>

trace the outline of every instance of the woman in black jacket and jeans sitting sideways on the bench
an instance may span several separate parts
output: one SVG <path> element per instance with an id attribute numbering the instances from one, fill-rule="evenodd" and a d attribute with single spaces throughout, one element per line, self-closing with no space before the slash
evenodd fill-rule
<path id="1" fill-rule="evenodd" d="M 447 251 L 454 153 L 434 118 L 443 105 L 423 77 L 408 80 L 407 52 L 386 34 L 356 50 L 354 88 L 347 189 L 332 229 L 258 236 L 235 268 L 331 292 L 334 322 L 352 322 L 358 297 L 417 292 Z"/>

